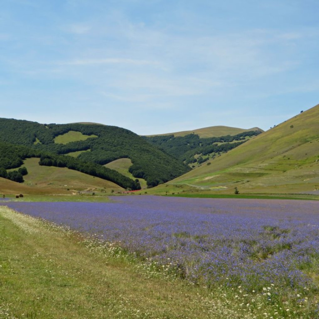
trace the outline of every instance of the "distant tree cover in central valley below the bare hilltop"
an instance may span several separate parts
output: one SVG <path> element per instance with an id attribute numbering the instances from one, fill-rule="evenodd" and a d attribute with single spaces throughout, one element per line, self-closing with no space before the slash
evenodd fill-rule
<path id="1" fill-rule="evenodd" d="M 255 136 L 260 134 L 261 131 L 247 131 L 236 135 L 226 135 L 220 137 L 200 138 L 197 134 L 188 134 L 183 137 L 174 137 L 171 135 L 152 136 L 143 138 L 154 146 L 159 147 L 168 154 L 177 159 L 184 161 L 186 164 L 198 162 L 203 163 L 207 159 L 195 159 L 194 155 L 202 154 L 208 155 L 211 153 L 227 152 L 238 145 L 245 142 L 245 137 Z M 238 142 L 234 142 L 238 141 Z M 233 143 L 231 143 L 233 142 Z M 223 143 L 223 144 L 217 144 Z"/>

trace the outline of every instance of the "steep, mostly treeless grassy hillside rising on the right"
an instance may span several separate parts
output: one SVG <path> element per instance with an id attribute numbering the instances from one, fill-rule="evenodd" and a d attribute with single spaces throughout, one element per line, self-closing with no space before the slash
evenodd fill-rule
<path id="1" fill-rule="evenodd" d="M 240 192 L 316 193 L 319 189 L 318 123 L 319 105 L 171 183 L 221 193 L 233 193 L 235 187 Z"/>

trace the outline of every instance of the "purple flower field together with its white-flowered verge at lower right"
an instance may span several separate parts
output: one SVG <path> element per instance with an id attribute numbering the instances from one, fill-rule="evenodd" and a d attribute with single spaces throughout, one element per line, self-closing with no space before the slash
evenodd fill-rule
<path id="1" fill-rule="evenodd" d="M 316 201 L 110 199 L 110 203 L 4 204 L 80 232 L 86 248 L 104 251 L 111 259 L 126 258 L 128 267 L 134 264 L 150 285 L 154 278 L 166 278 L 167 284 L 177 280 L 189 283 L 190 290 L 196 287 L 219 296 L 221 308 L 236 309 L 229 318 L 318 316 Z M 214 318 L 207 313 L 195 317 Z M 226 313 L 223 318 L 228 318 Z"/>

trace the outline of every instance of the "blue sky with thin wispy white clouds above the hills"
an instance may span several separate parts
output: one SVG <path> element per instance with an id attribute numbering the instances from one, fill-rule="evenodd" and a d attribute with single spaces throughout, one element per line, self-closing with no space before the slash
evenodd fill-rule
<path id="1" fill-rule="evenodd" d="M 318 0 L 2 0 L 0 117 L 268 130 L 319 103 Z"/>

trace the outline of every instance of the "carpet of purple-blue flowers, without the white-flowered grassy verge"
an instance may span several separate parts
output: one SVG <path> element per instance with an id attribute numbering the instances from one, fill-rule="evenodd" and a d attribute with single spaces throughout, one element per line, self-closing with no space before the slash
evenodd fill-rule
<path id="1" fill-rule="evenodd" d="M 204 285 L 261 291 L 312 287 L 319 203 L 299 200 L 111 197 L 111 203 L 3 204 L 171 265 Z M 286 287 L 286 288 L 285 288 Z"/>

